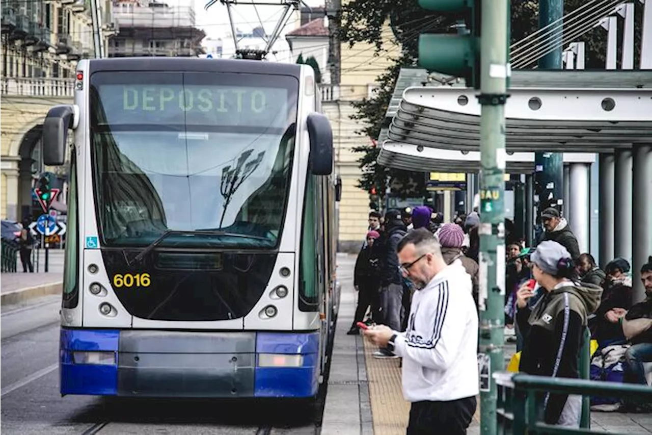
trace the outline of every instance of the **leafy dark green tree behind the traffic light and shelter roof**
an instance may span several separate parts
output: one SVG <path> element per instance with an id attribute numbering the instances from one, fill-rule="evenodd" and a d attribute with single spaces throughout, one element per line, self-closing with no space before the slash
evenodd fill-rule
<path id="1" fill-rule="evenodd" d="M 585 5 L 585 3 L 586 0 L 565 0 L 565 14 Z M 634 3 L 636 5 L 634 63 L 638 65 L 642 5 L 638 2 Z M 511 44 L 514 44 L 539 28 L 539 0 L 514 0 L 511 5 Z M 359 159 L 359 166 L 363 170 L 363 176 L 359 180 L 359 187 L 366 191 L 375 187 L 376 191 L 382 195 L 387 187 L 386 182 L 389 177 L 396 193 L 421 196 L 425 193 L 423 174 L 389 169 L 378 165 L 376 159 L 379 148 L 375 141 L 378 140 L 381 129 L 386 126 L 385 112 L 387 112 L 401 67 L 416 65 L 419 33 L 443 33 L 446 31 L 454 33 L 456 29 L 452 27 L 452 24 L 458 17 L 439 16 L 436 12 L 428 12 L 420 8 L 415 0 L 351 0 L 342 10 L 339 18 L 339 37 L 342 42 L 348 43 L 349 46 L 353 46 L 356 42 L 374 44 L 376 56 L 386 56 L 394 61 L 394 65 L 376 80 L 379 88 L 374 95 L 353 103 L 357 114 L 352 118 L 361 121 L 361 125 L 363 125 L 359 133 L 369 137 L 372 142 L 366 146 L 353 148 L 354 152 L 362 155 Z M 391 31 L 387 31 L 386 24 L 389 25 Z M 576 33 L 571 33 L 572 35 L 576 35 Z M 564 46 L 567 46 L 569 42 L 585 42 L 585 68 L 604 69 L 606 35 L 606 31 L 598 27 L 581 37 L 566 41 Z M 391 47 L 385 46 L 385 42 L 390 40 L 400 42 L 402 52 L 398 56 L 389 56 Z M 620 59 L 621 40 L 618 41 L 618 47 L 617 58 Z M 533 67 L 534 64 L 531 63 L 528 68 Z M 406 188 L 409 188 L 410 191 L 406 191 Z"/>

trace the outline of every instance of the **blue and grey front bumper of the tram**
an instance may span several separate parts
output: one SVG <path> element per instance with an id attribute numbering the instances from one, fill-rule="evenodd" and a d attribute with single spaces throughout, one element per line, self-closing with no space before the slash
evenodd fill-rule
<path id="1" fill-rule="evenodd" d="M 310 397 L 319 333 L 61 329 L 62 395 Z"/>

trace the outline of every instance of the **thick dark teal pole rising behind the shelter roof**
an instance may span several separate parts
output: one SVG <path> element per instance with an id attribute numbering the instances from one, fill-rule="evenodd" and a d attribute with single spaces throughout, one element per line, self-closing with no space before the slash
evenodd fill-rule
<path id="1" fill-rule="evenodd" d="M 546 44 L 543 46 L 550 53 L 539 59 L 539 69 L 561 69 L 562 31 L 561 18 L 564 13 L 563 0 L 539 0 L 539 28 L 553 24 L 544 31 Z M 550 31 L 554 29 L 554 31 Z M 547 35 L 546 35 L 547 33 Z M 544 208 L 554 206 L 563 211 L 564 195 L 564 161 L 563 153 L 535 153 L 535 191 L 539 195 L 539 214 Z M 561 201 L 559 201 L 561 200 Z"/>

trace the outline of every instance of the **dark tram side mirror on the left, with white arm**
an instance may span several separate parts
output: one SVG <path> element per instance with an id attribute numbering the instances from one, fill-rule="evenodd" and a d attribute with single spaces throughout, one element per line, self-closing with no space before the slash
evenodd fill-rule
<path id="1" fill-rule="evenodd" d="M 75 105 L 54 106 L 43 121 L 43 164 L 63 165 L 66 159 L 68 129 L 79 123 L 79 108 Z"/>

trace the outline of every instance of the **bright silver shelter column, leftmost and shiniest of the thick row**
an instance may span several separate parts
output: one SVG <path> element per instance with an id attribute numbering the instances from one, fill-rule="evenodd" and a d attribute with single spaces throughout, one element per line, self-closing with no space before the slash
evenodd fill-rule
<path id="1" fill-rule="evenodd" d="M 589 229 L 591 227 L 591 165 L 571 163 L 570 165 L 571 201 L 567 210 L 571 211 L 571 230 L 577 238 L 580 253 L 589 252 Z"/>

